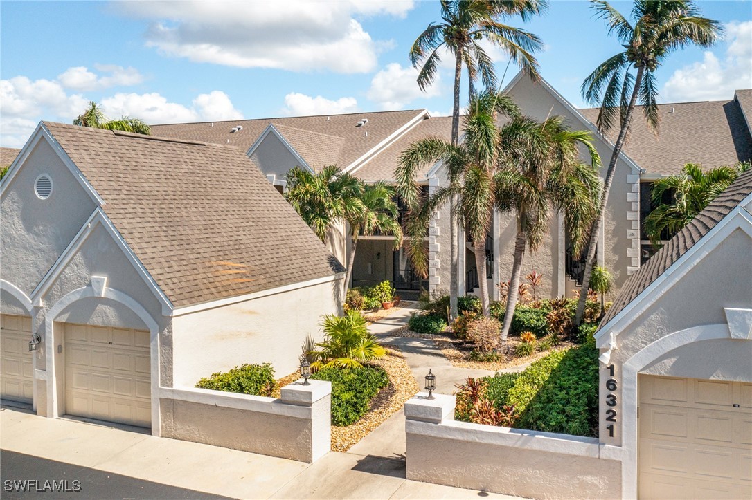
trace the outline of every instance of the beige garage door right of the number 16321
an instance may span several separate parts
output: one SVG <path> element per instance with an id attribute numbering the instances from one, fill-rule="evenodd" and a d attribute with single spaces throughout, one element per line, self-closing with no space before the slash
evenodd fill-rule
<path id="1" fill-rule="evenodd" d="M 752 498 L 752 384 L 639 377 L 641 498 Z"/>

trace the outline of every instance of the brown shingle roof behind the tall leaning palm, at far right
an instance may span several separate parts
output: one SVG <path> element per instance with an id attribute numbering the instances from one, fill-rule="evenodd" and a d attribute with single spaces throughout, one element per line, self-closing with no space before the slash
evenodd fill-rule
<path id="1" fill-rule="evenodd" d="M 595 123 L 598 111 L 588 108 L 580 113 Z M 655 135 L 647 128 L 641 107 L 636 107 L 623 148 L 648 173 L 672 175 L 680 173 L 685 163 L 711 168 L 752 158 L 750 130 L 735 100 L 660 104 L 658 113 L 660 127 Z M 606 135 L 615 141 L 618 134 L 618 128 L 611 128 Z"/>

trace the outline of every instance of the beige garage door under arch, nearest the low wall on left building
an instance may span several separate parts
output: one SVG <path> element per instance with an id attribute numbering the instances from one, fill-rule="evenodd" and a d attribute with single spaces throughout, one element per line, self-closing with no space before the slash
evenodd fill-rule
<path id="1" fill-rule="evenodd" d="M 151 426 L 149 332 L 65 324 L 65 412 Z"/>

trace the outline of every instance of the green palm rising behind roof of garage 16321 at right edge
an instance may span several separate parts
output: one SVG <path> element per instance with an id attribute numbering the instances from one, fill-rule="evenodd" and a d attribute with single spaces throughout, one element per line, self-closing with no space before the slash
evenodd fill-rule
<path id="1" fill-rule="evenodd" d="M 749 163 L 740 163 L 736 167 L 703 171 L 699 164 L 688 163 L 680 174 L 653 182 L 651 197 L 658 206 L 645 218 L 645 233 L 650 242 L 660 247 L 661 239 L 665 239 L 662 234 L 678 233 L 747 168 Z M 671 203 L 661 203 L 664 194 L 672 195 Z"/>

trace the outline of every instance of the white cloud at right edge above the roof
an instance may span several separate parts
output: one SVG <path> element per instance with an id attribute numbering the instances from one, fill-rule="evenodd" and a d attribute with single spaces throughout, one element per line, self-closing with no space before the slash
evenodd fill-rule
<path id="1" fill-rule="evenodd" d="M 752 21 L 729 23 L 725 29 L 727 47 L 723 59 L 708 51 L 702 61 L 675 71 L 663 86 L 662 101 L 730 99 L 735 89 L 749 88 L 752 82 Z"/>

